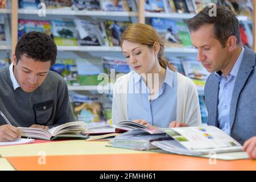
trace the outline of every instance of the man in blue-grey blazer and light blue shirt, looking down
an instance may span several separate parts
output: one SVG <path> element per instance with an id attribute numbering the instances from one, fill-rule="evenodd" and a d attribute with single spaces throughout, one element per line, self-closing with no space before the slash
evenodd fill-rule
<path id="1" fill-rule="evenodd" d="M 212 72 L 204 90 L 208 125 L 243 144 L 255 159 L 255 52 L 241 46 L 239 21 L 232 11 L 217 6 L 213 13 L 212 7 L 205 7 L 187 22 L 197 59 Z"/>

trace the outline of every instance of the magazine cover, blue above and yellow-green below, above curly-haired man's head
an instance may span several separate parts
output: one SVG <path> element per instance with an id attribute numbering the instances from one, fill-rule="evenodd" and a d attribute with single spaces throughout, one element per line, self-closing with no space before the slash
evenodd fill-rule
<path id="1" fill-rule="evenodd" d="M 51 26 L 57 46 L 77 46 L 77 31 L 73 21 L 52 20 Z"/>

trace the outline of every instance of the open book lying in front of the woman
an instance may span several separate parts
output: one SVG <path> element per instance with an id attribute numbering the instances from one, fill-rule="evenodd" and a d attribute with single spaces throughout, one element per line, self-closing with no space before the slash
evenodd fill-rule
<path id="1" fill-rule="evenodd" d="M 148 129 L 148 127 L 135 123 L 133 121 L 121 121 L 117 125 L 101 125 L 85 129 L 83 134 L 107 134 L 107 133 L 123 133 L 134 129 Z"/>

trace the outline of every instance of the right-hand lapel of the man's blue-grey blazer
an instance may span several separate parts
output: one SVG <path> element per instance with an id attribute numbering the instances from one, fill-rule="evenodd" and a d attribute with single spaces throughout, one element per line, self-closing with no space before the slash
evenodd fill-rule
<path id="1" fill-rule="evenodd" d="M 230 130 L 232 130 L 234 118 L 236 118 L 238 97 L 240 96 L 240 92 L 245 85 L 247 78 L 249 78 L 250 73 L 255 65 L 255 53 L 247 47 L 244 48 L 245 52 L 243 53 L 242 63 L 240 65 L 236 82 L 234 84 L 232 100 L 230 104 Z"/>

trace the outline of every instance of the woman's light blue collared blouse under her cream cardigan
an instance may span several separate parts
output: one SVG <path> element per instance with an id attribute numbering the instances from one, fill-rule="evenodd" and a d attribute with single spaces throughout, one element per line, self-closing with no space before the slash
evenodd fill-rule
<path id="1" fill-rule="evenodd" d="M 150 125 L 168 127 L 176 121 L 177 73 L 166 68 L 166 78 L 159 89 L 158 97 L 150 102 L 149 90 L 136 72 L 132 72 L 128 88 L 128 118 L 144 119 Z"/>

